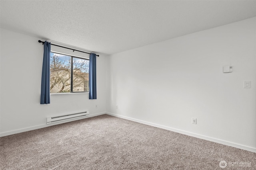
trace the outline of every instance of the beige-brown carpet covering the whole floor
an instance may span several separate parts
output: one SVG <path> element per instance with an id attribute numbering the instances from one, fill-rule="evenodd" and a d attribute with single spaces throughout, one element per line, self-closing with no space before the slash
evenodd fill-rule
<path id="1" fill-rule="evenodd" d="M 256 153 L 100 115 L 1 137 L 0 169 L 256 170 Z"/>

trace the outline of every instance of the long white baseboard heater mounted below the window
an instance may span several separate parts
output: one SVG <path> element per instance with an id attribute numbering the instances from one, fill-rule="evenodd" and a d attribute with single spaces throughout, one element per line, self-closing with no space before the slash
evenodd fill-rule
<path id="1" fill-rule="evenodd" d="M 60 115 L 60 116 L 56 116 L 56 117 L 47 117 L 46 124 L 56 123 L 56 122 L 60 122 L 60 121 L 70 120 L 70 119 L 76 119 L 76 118 L 84 117 L 87 115 L 89 115 L 89 111 L 85 111 L 82 113 L 73 113 L 73 114 L 69 114 L 69 115 Z"/>

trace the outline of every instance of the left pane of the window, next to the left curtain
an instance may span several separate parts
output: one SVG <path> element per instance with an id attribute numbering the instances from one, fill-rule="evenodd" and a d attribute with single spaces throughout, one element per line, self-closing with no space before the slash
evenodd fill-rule
<path id="1" fill-rule="evenodd" d="M 70 92 L 70 56 L 51 53 L 50 93 Z"/>

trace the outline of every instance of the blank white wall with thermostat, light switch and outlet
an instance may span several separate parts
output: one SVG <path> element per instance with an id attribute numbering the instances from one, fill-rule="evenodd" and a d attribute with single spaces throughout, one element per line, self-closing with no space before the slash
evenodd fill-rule
<path id="1" fill-rule="evenodd" d="M 255 64 L 255 17 L 117 53 L 107 111 L 256 152 Z"/>

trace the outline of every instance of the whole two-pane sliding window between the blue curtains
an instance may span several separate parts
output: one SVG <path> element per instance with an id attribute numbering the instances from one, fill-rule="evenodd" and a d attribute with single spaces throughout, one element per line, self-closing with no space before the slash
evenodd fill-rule
<path id="1" fill-rule="evenodd" d="M 89 59 L 51 52 L 50 93 L 89 92 Z"/>

